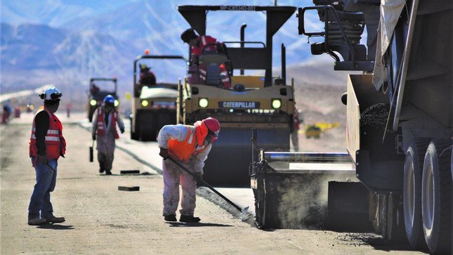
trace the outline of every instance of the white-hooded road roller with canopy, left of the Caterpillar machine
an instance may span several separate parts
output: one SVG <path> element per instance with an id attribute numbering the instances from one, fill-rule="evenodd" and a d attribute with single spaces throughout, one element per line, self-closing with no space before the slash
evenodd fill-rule
<path id="1" fill-rule="evenodd" d="M 181 55 L 138 55 L 133 61 L 133 98 L 131 106 L 131 139 L 132 140 L 156 140 L 162 126 L 176 124 L 176 97 L 178 95 L 178 72 L 177 67 L 185 70 L 187 60 Z M 182 60 L 182 61 L 181 61 Z M 163 65 L 164 61 L 166 65 Z M 146 63 L 145 63 L 146 62 Z M 149 72 L 147 64 L 156 64 L 157 74 Z M 158 65 L 160 64 L 160 65 Z M 140 69 L 138 69 L 140 67 Z M 146 70 L 146 74 L 140 72 Z M 174 79 L 175 82 L 164 82 L 164 70 L 173 70 L 175 73 L 165 77 L 166 80 Z M 144 77 L 152 75 L 152 79 Z M 183 74 L 181 74 L 183 75 Z M 159 79 L 157 79 L 157 76 Z"/>

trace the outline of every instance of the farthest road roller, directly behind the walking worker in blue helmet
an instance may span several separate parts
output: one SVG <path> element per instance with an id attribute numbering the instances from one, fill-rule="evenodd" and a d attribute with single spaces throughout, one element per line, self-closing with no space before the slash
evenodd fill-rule
<path id="1" fill-rule="evenodd" d="M 87 110 L 88 121 L 93 119 L 94 110 L 102 105 L 105 96 L 112 95 L 115 99 L 114 106 L 118 107 L 117 78 L 91 78 L 89 84 Z"/>

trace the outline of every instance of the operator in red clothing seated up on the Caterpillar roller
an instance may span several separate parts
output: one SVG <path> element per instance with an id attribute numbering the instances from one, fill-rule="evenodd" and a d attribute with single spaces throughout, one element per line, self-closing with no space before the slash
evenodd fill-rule
<path id="1" fill-rule="evenodd" d="M 192 28 L 185 30 L 183 34 L 181 34 L 181 39 L 191 46 L 190 65 L 199 65 L 198 58 L 202 55 L 203 49 L 205 51 L 216 51 L 218 47 L 222 49 L 225 48 L 225 45 L 221 41 L 218 41 L 216 38 L 209 35 L 198 36 Z M 218 46 L 208 46 L 209 44 L 217 44 Z M 206 48 L 204 48 L 205 46 Z M 223 76 L 223 79 L 221 79 L 223 87 L 225 89 L 230 89 L 230 74 L 228 74 L 226 65 L 227 63 L 222 63 L 219 66 L 219 71 L 221 76 Z M 206 67 L 202 65 L 199 65 L 199 77 L 206 84 Z"/>

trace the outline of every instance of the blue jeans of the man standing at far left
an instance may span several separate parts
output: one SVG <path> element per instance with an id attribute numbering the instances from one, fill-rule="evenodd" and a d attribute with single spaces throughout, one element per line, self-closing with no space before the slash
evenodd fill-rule
<path id="1" fill-rule="evenodd" d="M 32 162 L 36 160 L 32 157 Z M 28 206 L 28 219 L 52 218 L 53 207 L 51 203 L 51 192 L 55 189 L 57 181 L 57 159 L 49 159 L 48 164 L 41 164 L 39 161 L 34 165 L 37 183 Z"/>

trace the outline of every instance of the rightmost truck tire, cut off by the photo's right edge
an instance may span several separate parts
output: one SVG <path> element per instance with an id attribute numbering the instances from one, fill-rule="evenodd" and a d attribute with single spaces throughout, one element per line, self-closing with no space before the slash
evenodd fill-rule
<path id="1" fill-rule="evenodd" d="M 451 230 L 451 147 L 449 140 L 433 139 L 428 145 L 421 179 L 421 217 L 431 254 L 449 254 Z"/>

